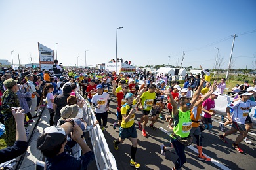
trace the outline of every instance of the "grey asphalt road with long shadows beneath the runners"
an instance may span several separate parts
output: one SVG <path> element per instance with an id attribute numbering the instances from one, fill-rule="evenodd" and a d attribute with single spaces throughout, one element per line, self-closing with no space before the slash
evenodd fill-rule
<path id="1" fill-rule="evenodd" d="M 113 122 L 116 121 L 116 97 L 110 92 L 110 114 L 108 114 L 108 124 L 104 135 L 110 151 L 116 158 L 118 169 L 135 169 L 129 165 L 131 159 L 131 141 L 125 139 L 123 144 L 119 144 L 119 150 L 114 150 L 113 141 L 119 136 L 119 127 L 113 129 Z M 167 109 L 163 109 L 164 114 L 167 114 Z M 138 120 L 142 116 L 141 111 L 136 112 L 135 126 L 138 133 L 138 148 L 136 154 L 136 161 L 140 163 L 140 169 L 171 169 L 174 167 L 174 162 L 177 160 L 175 152 L 165 152 L 165 156 L 160 153 L 160 145 L 170 146 L 170 137 L 161 129 L 171 131 L 167 125 L 168 122 L 160 120 L 155 124 L 156 130 L 146 127 L 148 137 L 143 137 L 142 132 L 138 128 Z M 244 141 L 240 144 L 240 148 L 244 150 L 241 154 L 232 148 L 231 144 L 236 139 L 237 134 L 226 137 L 228 144 L 223 143 L 218 138 L 223 132 L 219 129 L 219 122 L 221 118 L 213 116 L 213 129 L 210 131 L 203 131 L 203 153 L 210 158 L 211 162 L 200 161 L 197 157 L 196 140 L 194 144 L 186 147 L 187 162 L 183 165 L 182 169 L 255 169 L 256 167 L 256 131 L 251 129 L 248 137 L 253 142 L 247 144 Z M 148 123 L 149 125 L 149 123 Z M 147 126 L 148 126 L 147 125 Z M 226 127 L 230 129 L 230 127 Z"/>

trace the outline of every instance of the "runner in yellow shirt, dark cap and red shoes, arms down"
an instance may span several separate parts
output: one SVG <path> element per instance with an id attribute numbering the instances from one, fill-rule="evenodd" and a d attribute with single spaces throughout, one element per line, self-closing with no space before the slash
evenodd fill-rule
<path id="1" fill-rule="evenodd" d="M 142 124 L 142 135 L 146 137 L 146 124 L 148 123 L 148 114 L 150 113 L 150 110 L 152 107 L 154 107 L 154 99 L 156 99 L 156 85 L 155 84 L 150 84 L 148 86 L 148 91 L 144 92 L 142 96 L 140 97 L 140 107 L 142 109 L 142 114 L 143 116 L 140 118 L 140 121 L 138 122 L 139 124 L 139 129 L 141 129 L 141 124 Z"/>

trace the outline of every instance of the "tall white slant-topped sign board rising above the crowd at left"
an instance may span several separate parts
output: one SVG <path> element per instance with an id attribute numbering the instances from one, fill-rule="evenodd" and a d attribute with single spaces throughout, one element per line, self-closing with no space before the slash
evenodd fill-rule
<path id="1" fill-rule="evenodd" d="M 40 69 L 53 69 L 54 51 L 38 42 Z"/>

